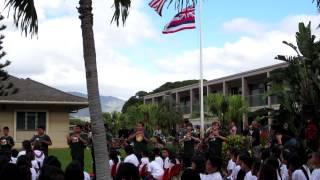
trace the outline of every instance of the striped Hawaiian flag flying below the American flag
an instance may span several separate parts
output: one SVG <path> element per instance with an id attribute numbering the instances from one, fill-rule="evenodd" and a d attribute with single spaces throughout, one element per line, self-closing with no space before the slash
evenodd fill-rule
<path id="1" fill-rule="evenodd" d="M 194 28 L 196 28 L 195 8 L 194 6 L 189 6 L 182 9 L 176 16 L 174 16 L 171 22 L 164 27 L 162 33 L 169 34 Z"/>

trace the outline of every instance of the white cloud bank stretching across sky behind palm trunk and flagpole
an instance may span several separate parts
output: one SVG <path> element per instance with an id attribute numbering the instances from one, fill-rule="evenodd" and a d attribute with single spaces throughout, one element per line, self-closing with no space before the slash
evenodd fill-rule
<path id="1" fill-rule="evenodd" d="M 101 94 L 128 98 L 138 90 L 151 91 L 167 81 L 199 77 L 198 49 L 181 50 L 175 53 L 178 54 L 176 56 L 159 54 L 159 59 L 150 60 L 152 70 L 138 65 L 125 53 L 120 53 L 120 50 L 146 43 L 146 40 L 159 42 L 152 19 L 142 11 L 142 3 L 144 0 L 133 1 L 126 26 L 117 28 L 110 25 L 111 1 L 94 1 L 94 33 Z M 9 27 L 4 44 L 8 52 L 6 57 L 12 60 L 9 72 L 65 91 L 85 92 L 82 38 L 76 6 L 76 1 L 69 0 L 39 1 L 38 39 L 24 38 L 19 31 Z M 222 47 L 204 48 L 204 77 L 210 80 L 277 63 L 273 59 L 277 54 L 293 53 L 281 42 L 294 42 L 297 23 L 301 19 L 317 22 L 315 19 L 320 17 L 288 17 L 267 28 L 250 19 L 237 18 L 226 22 L 223 26 L 225 30 L 237 30 L 245 35 L 234 42 L 226 42 Z"/>

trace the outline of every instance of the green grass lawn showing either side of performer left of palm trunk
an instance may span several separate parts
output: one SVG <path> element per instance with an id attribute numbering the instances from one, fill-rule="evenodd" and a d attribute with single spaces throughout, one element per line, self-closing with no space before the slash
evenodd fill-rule
<path id="1" fill-rule="evenodd" d="M 70 155 L 69 148 L 49 149 L 49 155 L 56 156 L 60 160 L 63 170 L 71 162 L 71 155 Z M 84 151 L 84 169 L 88 173 L 92 172 L 91 152 L 88 149 Z"/>

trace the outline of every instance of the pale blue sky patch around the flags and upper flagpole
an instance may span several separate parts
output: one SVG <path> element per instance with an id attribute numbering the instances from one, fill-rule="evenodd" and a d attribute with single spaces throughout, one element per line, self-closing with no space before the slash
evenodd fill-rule
<path id="1" fill-rule="evenodd" d="M 177 51 L 187 51 L 199 47 L 198 29 L 170 35 L 161 34 L 163 26 L 176 14 L 174 6 L 164 8 L 163 17 L 158 16 L 147 3 L 144 3 L 142 10 L 153 20 L 157 36 L 162 41 L 149 41 L 129 50 L 127 48 L 121 50 L 121 53 L 134 57 L 136 63 L 154 72 L 155 69 L 150 64 L 150 61 L 159 58 L 159 55 L 174 55 Z M 242 35 L 241 33 L 229 33 L 222 28 L 225 22 L 237 17 L 248 18 L 268 26 L 273 26 L 276 25 L 274 24 L 275 22 L 279 22 L 279 20 L 288 16 L 316 13 L 315 4 L 312 4 L 311 1 L 205 0 L 203 1 L 202 11 L 203 45 L 204 47 L 221 47 L 225 42 L 239 39 Z M 146 49 L 149 53 L 146 53 Z"/>

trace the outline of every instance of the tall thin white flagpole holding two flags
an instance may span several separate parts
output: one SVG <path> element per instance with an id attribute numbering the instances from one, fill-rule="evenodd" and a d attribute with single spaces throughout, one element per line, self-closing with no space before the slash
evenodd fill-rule
<path id="1" fill-rule="evenodd" d="M 204 108 L 203 108 L 203 60 L 202 60 L 202 0 L 199 0 L 199 40 L 200 40 L 200 122 L 201 138 L 204 138 Z"/>

